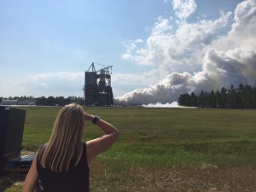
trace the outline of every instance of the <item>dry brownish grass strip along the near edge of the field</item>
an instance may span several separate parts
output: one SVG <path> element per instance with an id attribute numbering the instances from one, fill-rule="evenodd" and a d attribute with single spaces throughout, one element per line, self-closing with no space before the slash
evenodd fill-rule
<path id="1" fill-rule="evenodd" d="M 91 192 L 256 192 L 256 169 L 250 166 L 218 168 L 199 164 L 193 168 L 108 172 L 95 167 L 91 170 Z M 12 172 L 0 177 L 0 191 L 21 189 L 26 173 Z"/>

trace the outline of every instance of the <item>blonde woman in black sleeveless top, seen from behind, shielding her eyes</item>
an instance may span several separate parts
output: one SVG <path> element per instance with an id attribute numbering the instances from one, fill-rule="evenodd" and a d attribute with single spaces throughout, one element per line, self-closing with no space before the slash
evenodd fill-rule
<path id="1" fill-rule="evenodd" d="M 105 133 L 82 141 L 84 121 L 91 121 Z M 32 192 L 38 182 L 45 192 L 89 191 L 91 161 L 119 137 L 119 131 L 98 116 L 84 113 L 81 106 L 69 104 L 58 113 L 49 142 L 38 150 L 23 184 L 23 192 Z"/>

